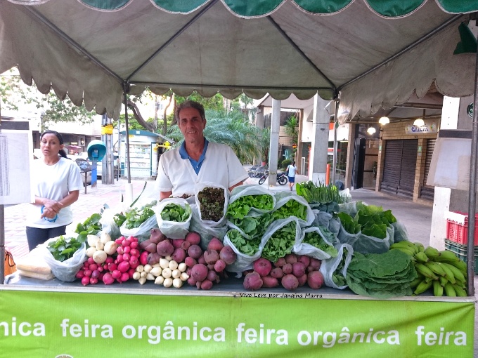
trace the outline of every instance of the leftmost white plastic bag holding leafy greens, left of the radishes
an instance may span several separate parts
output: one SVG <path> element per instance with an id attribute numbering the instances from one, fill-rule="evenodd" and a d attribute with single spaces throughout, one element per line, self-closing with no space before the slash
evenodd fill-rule
<path id="1" fill-rule="evenodd" d="M 75 281 L 77 272 L 82 268 L 86 260 L 86 244 L 82 243 L 82 246 L 80 246 L 71 258 L 62 262 L 53 258 L 53 255 L 48 249 L 48 244 L 52 241 L 56 241 L 56 239 L 56 237 L 53 237 L 53 239 L 49 239 L 44 244 L 39 245 L 41 254 L 57 279 L 65 282 Z"/>

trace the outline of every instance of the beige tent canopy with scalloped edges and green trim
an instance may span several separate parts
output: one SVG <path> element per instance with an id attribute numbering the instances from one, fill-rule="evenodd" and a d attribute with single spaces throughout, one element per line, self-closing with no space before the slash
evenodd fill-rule
<path id="1" fill-rule="evenodd" d="M 34 6 L 32 6 L 34 5 Z M 0 1 L 0 72 L 117 119 L 122 93 L 340 93 L 340 120 L 474 90 L 453 55 L 478 0 Z"/>

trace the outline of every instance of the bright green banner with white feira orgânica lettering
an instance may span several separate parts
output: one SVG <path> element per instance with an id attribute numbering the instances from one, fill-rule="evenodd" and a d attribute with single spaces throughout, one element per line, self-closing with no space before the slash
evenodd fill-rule
<path id="1" fill-rule="evenodd" d="M 283 295 L 0 291 L 0 357 L 473 355 L 473 302 Z"/>

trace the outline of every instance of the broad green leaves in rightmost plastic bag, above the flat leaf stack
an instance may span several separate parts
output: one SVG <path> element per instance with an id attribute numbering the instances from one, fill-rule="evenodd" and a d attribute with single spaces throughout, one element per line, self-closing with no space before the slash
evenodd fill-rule
<path id="1" fill-rule="evenodd" d="M 364 235 L 385 239 L 387 237 L 387 226 L 396 222 L 392 211 L 383 211 L 382 206 L 365 205 L 358 202 L 355 221 L 361 225 L 361 232 Z"/>

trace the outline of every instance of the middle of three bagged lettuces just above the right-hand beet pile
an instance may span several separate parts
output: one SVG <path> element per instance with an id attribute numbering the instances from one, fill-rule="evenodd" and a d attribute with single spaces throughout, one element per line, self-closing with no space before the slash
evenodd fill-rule
<path id="1" fill-rule="evenodd" d="M 292 252 L 292 246 L 295 244 L 297 224 L 295 221 L 284 225 L 276 230 L 267 240 L 261 257 L 275 263 L 279 258 L 283 258 L 288 253 Z"/>

